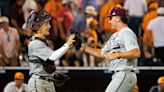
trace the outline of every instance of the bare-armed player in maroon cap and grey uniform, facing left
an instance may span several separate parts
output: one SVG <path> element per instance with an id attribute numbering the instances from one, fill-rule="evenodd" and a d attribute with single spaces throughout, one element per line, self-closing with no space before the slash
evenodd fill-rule
<path id="1" fill-rule="evenodd" d="M 137 37 L 127 26 L 128 19 L 123 8 L 114 7 L 108 17 L 116 32 L 105 46 L 95 49 L 83 44 L 80 50 L 109 62 L 109 70 L 114 74 L 105 92 L 132 92 L 137 82 L 134 70 L 140 57 Z"/>

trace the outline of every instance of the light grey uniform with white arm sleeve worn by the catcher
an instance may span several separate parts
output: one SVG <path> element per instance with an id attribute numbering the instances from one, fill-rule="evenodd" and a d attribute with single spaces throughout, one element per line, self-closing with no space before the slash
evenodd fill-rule
<path id="1" fill-rule="evenodd" d="M 47 59 L 56 61 L 67 50 L 69 46 L 64 44 L 61 48 L 53 51 L 45 42 L 35 39 L 28 45 L 29 60 L 42 59 L 46 62 Z M 30 76 L 28 81 L 28 92 L 56 92 L 53 81 L 50 81 L 53 74 L 47 73 L 41 63 L 30 62 Z M 43 79 L 44 77 L 44 79 Z"/>

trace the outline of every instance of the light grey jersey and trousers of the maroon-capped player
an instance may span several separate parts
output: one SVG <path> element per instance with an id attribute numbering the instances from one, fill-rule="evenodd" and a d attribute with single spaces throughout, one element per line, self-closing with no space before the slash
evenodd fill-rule
<path id="1" fill-rule="evenodd" d="M 126 27 L 114 33 L 102 48 L 104 53 L 127 52 L 139 48 L 137 37 L 133 31 Z M 105 92 L 132 92 L 137 77 L 132 70 L 137 66 L 136 59 L 119 58 L 108 61 L 109 70 L 114 71 L 112 80 Z"/>

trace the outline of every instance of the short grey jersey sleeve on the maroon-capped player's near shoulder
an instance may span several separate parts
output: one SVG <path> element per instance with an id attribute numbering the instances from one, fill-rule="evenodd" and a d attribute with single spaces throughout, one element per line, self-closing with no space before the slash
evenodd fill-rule
<path id="1" fill-rule="evenodd" d="M 123 45 L 126 51 L 130 51 L 135 48 L 139 48 L 137 37 L 133 32 L 124 31 L 122 32 L 121 39 L 123 39 Z"/>

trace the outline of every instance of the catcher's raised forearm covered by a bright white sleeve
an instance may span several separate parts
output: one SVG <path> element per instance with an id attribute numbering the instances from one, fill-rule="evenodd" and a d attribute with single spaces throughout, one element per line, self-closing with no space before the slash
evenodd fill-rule
<path id="1" fill-rule="evenodd" d="M 54 51 L 52 53 L 52 55 L 49 57 L 49 59 L 52 60 L 52 61 L 58 60 L 59 58 L 61 58 L 67 52 L 68 49 L 69 49 L 69 45 L 64 44 L 61 48 Z"/>

